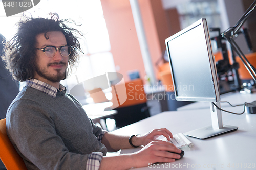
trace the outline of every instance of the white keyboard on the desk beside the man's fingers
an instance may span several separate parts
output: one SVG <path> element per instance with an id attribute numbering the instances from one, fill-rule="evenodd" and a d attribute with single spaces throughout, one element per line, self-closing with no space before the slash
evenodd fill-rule
<path id="1" fill-rule="evenodd" d="M 188 138 L 186 138 L 186 136 L 184 136 L 182 133 L 178 133 L 173 135 L 173 139 L 170 139 L 170 141 L 168 141 L 166 139 L 166 141 L 173 143 L 177 148 L 181 148 L 181 147 L 185 147 L 186 145 L 188 145 L 189 148 L 194 147 L 194 144 L 188 140 Z"/>

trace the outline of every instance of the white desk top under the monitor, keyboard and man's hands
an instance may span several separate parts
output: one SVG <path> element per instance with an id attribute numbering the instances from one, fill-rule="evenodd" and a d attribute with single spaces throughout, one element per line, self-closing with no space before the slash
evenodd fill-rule
<path id="1" fill-rule="evenodd" d="M 236 95 L 236 94 L 234 94 Z M 231 97 L 231 96 L 230 96 Z M 250 98 L 244 95 L 244 99 Z M 250 99 L 249 99 L 250 100 Z M 256 96 L 254 95 L 254 100 Z M 251 101 L 248 101 L 251 102 Z M 243 108 L 226 107 L 230 111 L 241 112 Z M 222 112 L 223 124 L 238 126 L 235 132 L 197 139 L 188 137 L 194 148 L 183 147 L 185 155 L 173 163 L 154 165 L 157 169 L 178 167 L 177 169 L 256 169 L 256 114 L 233 115 Z M 173 134 L 211 124 L 209 109 L 169 111 L 141 120 L 140 122 L 113 131 L 115 134 L 144 134 L 154 128 L 167 128 Z M 134 152 L 135 149 L 122 150 L 121 153 Z M 162 166 L 162 168 L 161 168 Z M 201 167 L 201 168 L 200 168 Z M 224 168 L 223 168 L 224 167 Z M 245 168 L 247 167 L 247 168 Z M 138 168 L 152 169 L 153 166 Z"/>

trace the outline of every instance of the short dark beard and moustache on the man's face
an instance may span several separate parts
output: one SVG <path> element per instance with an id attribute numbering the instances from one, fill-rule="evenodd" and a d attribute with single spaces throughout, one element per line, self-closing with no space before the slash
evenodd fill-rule
<path id="1" fill-rule="evenodd" d="M 63 65 L 67 65 L 66 63 L 64 62 L 54 62 L 54 63 L 50 63 L 47 65 L 47 67 L 49 67 L 49 65 L 51 64 L 63 64 Z M 35 64 L 35 71 L 37 72 L 37 74 L 44 78 L 44 79 L 47 79 L 53 83 L 56 83 L 56 82 L 60 82 L 60 80 L 63 80 L 66 78 L 66 71 L 65 72 L 60 72 L 61 69 L 56 69 L 55 71 L 57 72 L 57 75 L 51 75 L 50 72 L 47 71 L 46 68 L 39 68 L 39 66 L 37 64 Z"/>

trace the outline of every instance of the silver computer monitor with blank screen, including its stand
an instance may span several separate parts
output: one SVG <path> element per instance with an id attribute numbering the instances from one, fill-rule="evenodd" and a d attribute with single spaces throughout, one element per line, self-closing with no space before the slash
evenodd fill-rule
<path id="1" fill-rule="evenodd" d="M 202 18 L 165 40 L 177 101 L 209 102 L 212 125 L 184 133 L 205 139 L 238 127 L 222 124 L 220 92 L 209 31 Z"/>

